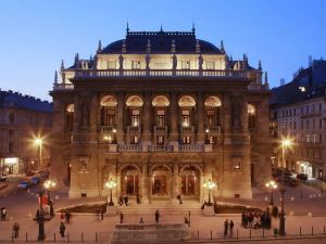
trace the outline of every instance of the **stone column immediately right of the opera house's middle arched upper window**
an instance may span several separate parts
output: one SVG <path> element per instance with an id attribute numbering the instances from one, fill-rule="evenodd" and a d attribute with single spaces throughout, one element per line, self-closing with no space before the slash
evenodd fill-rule
<path id="1" fill-rule="evenodd" d="M 171 103 L 170 103 L 170 144 L 174 145 L 175 147 L 178 146 L 178 107 L 176 101 L 176 93 L 171 94 Z"/>

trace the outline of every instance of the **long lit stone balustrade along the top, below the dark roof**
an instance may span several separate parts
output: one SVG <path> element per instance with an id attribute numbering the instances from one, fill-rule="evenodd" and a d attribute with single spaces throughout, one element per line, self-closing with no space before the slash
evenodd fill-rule
<path id="1" fill-rule="evenodd" d="M 96 77 L 223 77 L 223 78 L 248 78 L 248 70 L 227 69 L 78 69 L 77 78 Z"/>

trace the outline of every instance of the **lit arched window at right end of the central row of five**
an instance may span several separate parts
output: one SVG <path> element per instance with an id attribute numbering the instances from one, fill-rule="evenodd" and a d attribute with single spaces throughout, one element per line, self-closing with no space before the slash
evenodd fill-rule
<path id="1" fill-rule="evenodd" d="M 208 128 L 221 126 L 221 100 L 215 95 L 211 95 L 205 99 L 204 106 Z"/>

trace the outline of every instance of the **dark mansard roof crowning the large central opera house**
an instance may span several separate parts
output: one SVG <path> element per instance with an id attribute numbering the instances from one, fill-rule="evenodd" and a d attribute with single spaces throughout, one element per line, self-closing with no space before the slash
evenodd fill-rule
<path id="1" fill-rule="evenodd" d="M 151 53 L 171 53 L 172 43 L 175 43 L 176 53 L 195 53 L 199 43 L 200 52 L 221 54 L 222 52 L 211 42 L 196 39 L 195 31 L 127 31 L 126 38 L 114 41 L 99 53 L 121 53 L 125 42 L 126 53 L 146 53 L 150 43 Z"/>

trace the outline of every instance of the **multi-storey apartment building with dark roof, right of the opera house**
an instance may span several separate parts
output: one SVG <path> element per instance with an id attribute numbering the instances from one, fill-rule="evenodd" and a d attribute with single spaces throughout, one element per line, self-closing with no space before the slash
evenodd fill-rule
<path id="1" fill-rule="evenodd" d="M 291 82 L 272 89 L 272 160 L 310 178 L 326 180 L 326 61 L 310 61 Z M 289 137 L 293 146 L 281 164 L 279 140 Z"/>

